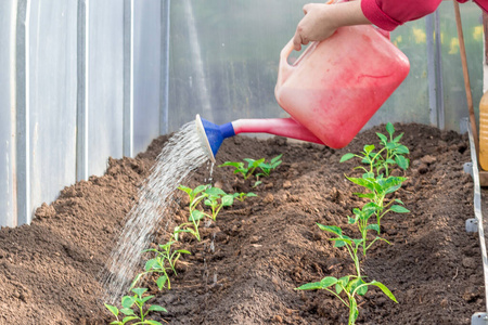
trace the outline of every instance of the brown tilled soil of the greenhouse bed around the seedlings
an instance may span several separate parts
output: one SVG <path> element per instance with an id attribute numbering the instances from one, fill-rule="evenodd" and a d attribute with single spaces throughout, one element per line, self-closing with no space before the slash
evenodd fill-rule
<path id="1" fill-rule="evenodd" d="M 359 324 L 470 324 L 484 311 L 484 283 L 477 234 L 465 232 L 474 218 L 473 182 L 463 172 L 471 160 L 466 135 L 408 123 L 407 182 L 397 192 L 410 213 L 382 219 L 382 235 L 361 261 L 369 280 L 385 284 L 399 303 L 378 289 L 359 299 Z M 339 164 L 347 152 L 377 143 L 375 132 L 359 134 L 344 150 L 296 143 L 283 138 L 235 136 L 223 142 L 217 164 L 243 158 L 283 164 L 252 187 L 229 168 L 214 168 L 213 182 L 226 192 L 253 191 L 258 197 L 236 203 L 202 227 L 201 243 L 189 236 L 181 248 L 192 252 L 178 263 L 171 290 L 158 291 L 152 304 L 167 308 L 153 320 L 169 324 L 347 324 L 347 308 L 326 291 L 294 288 L 324 276 L 352 272 L 344 248 L 334 248 L 317 222 L 341 225 L 350 235 L 347 216 L 362 202 L 345 179 L 357 161 Z M 51 205 L 36 211 L 30 225 L 0 231 L 0 324 L 107 324 L 98 280 L 117 242 L 125 216 L 137 204 L 138 186 L 147 177 L 167 136 L 153 141 L 137 158 L 110 159 L 103 177 L 64 188 Z M 209 177 L 203 166 L 187 185 Z M 169 226 L 154 236 L 166 243 L 174 224 L 185 220 L 181 196 L 168 212 Z M 142 270 L 142 269 L 141 269 Z"/>

